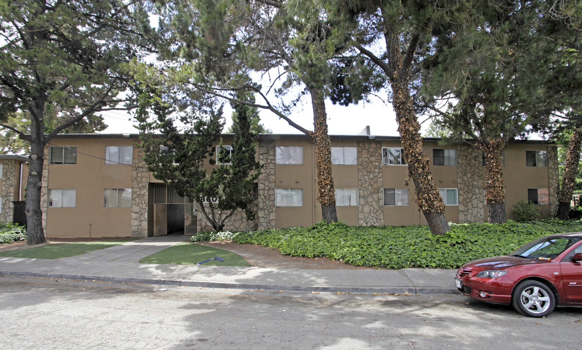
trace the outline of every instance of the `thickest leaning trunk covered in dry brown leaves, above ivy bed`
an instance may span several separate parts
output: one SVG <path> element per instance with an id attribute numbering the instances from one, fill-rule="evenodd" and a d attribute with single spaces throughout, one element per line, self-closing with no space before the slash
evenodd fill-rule
<path id="1" fill-rule="evenodd" d="M 414 114 L 408 80 L 395 77 L 391 80 L 392 104 L 398 121 L 404 157 L 408 163 L 408 175 L 414 182 L 416 202 L 427 219 L 428 228 L 434 234 L 450 230 L 445 219 L 445 204 L 437 185 L 432 181 L 428 156 L 423 149 L 420 124 Z"/>

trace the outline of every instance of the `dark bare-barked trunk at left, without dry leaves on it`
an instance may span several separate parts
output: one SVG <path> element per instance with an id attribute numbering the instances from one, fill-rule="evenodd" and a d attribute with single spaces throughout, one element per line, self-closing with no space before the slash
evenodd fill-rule
<path id="1" fill-rule="evenodd" d="M 46 241 L 42 229 L 41 188 L 42 167 L 44 165 L 43 135 L 44 100 L 34 99 L 31 104 L 30 123 L 30 164 L 29 179 L 26 182 L 26 244 L 40 244 Z"/>

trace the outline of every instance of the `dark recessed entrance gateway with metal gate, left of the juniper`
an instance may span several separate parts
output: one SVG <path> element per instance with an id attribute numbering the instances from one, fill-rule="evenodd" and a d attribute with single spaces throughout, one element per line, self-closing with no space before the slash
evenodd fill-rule
<path id="1" fill-rule="evenodd" d="M 180 196 L 163 183 L 150 183 L 150 193 L 154 195 L 154 236 L 197 233 L 196 203 L 190 197 Z"/>

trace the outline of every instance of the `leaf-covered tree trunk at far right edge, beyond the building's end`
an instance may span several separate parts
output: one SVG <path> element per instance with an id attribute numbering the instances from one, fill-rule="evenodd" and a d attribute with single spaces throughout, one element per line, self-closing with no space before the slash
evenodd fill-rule
<path id="1" fill-rule="evenodd" d="M 567 220 L 570 212 L 570 201 L 572 192 L 576 185 L 576 174 L 580 165 L 580 147 L 582 145 L 582 130 L 580 127 L 574 129 L 572 137 L 568 141 L 568 151 L 566 153 L 566 165 L 562 176 L 562 188 L 558 194 L 558 212 L 556 218 Z"/>

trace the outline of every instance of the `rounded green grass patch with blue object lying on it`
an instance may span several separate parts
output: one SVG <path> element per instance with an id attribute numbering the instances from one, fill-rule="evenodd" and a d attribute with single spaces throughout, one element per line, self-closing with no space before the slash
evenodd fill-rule
<path id="1" fill-rule="evenodd" d="M 251 266 L 243 257 L 230 251 L 202 246 L 196 243 L 178 243 L 140 260 L 141 264 L 196 265 L 214 257 L 201 266 Z"/>

